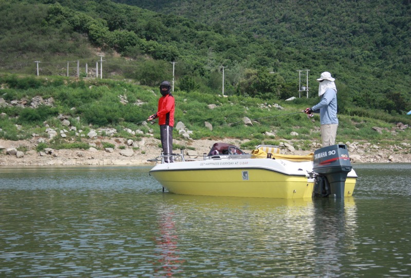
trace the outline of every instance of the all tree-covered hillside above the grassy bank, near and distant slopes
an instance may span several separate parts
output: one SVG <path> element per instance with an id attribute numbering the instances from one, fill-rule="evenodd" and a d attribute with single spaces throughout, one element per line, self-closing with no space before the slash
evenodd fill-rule
<path id="1" fill-rule="evenodd" d="M 328 70 L 337 78 L 340 113 L 411 107 L 407 1 L 126 3 L 140 7 L 0 0 L 0 70 L 35 74 L 40 61 L 40 75 L 90 77 L 102 54 L 105 78 L 153 86 L 171 79 L 170 62 L 177 62 L 176 89 L 218 94 L 225 66 L 227 95 L 266 99 L 298 96 L 298 69 L 310 70 L 315 97 L 315 78 Z"/>

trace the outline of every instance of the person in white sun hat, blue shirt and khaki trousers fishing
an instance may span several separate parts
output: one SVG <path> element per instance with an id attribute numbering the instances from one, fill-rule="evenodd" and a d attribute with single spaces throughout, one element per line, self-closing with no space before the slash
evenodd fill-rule
<path id="1" fill-rule="evenodd" d="M 334 80 L 328 71 L 321 73 L 320 78 L 317 79 L 320 82 L 318 95 L 321 97 L 321 101 L 304 110 L 306 114 L 320 113 L 323 147 L 334 145 L 337 135 L 337 88 Z"/>

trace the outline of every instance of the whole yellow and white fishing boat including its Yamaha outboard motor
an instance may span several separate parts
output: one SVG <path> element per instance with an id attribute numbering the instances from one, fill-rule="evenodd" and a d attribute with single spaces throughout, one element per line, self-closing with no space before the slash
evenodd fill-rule
<path id="1" fill-rule="evenodd" d="M 176 194 L 344 198 L 352 195 L 357 179 L 346 150 L 345 145 L 334 145 L 314 154 L 290 156 L 279 154 L 275 146 L 257 146 L 251 154 L 245 154 L 234 145 L 216 143 L 202 159 L 187 159 L 180 154 L 173 155 L 174 163 L 164 163 L 164 156 L 157 157 L 150 175 L 163 189 Z"/>

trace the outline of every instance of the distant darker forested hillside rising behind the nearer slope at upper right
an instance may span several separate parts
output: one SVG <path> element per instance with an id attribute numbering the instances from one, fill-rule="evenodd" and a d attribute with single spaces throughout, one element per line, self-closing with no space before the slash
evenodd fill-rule
<path id="1" fill-rule="evenodd" d="M 409 101 L 410 1 L 115 2 L 184 16 L 220 33 L 265 38 L 274 46 L 265 66 L 286 80 L 297 69 L 310 69 L 314 77 L 328 70 L 348 86 L 356 105 L 391 110 L 396 99 Z"/>

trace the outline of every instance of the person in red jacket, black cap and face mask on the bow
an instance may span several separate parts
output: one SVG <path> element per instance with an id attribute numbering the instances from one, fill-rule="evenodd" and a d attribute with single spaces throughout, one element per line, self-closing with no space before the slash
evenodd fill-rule
<path id="1" fill-rule="evenodd" d="M 173 153 L 173 126 L 174 126 L 174 97 L 170 92 L 171 84 L 169 81 L 163 81 L 160 85 L 162 97 L 158 100 L 157 113 L 148 117 L 148 121 L 158 118 L 160 125 L 160 139 L 164 155 Z M 165 157 L 164 162 L 173 162 L 172 157 Z"/>

